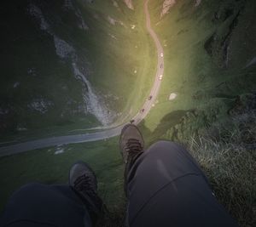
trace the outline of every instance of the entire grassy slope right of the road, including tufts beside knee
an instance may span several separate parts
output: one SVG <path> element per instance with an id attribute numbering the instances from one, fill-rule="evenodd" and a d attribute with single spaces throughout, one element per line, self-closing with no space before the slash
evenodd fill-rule
<path id="1" fill-rule="evenodd" d="M 165 74 L 159 102 L 140 128 L 148 145 L 172 139 L 188 146 L 218 200 L 241 226 L 253 226 L 256 66 L 246 65 L 256 55 L 256 3 L 194 4 L 177 1 L 160 20 L 161 5 L 151 1 Z M 171 93 L 177 99 L 169 101 Z"/>

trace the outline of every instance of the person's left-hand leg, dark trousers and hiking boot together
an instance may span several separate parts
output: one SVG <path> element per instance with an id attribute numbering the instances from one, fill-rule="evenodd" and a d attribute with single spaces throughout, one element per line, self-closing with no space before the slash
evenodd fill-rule
<path id="1" fill-rule="evenodd" d="M 0 226 L 92 226 L 102 209 L 96 177 L 84 162 L 73 165 L 69 185 L 26 184 L 11 196 Z"/>

